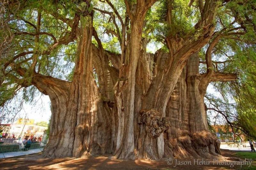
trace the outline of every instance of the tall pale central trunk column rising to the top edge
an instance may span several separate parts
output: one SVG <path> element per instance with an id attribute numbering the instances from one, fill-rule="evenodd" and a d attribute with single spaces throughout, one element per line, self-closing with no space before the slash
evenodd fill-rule
<path id="1" fill-rule="evenodd" d="M 155 1 L 139 0 L 136 5 L 130 4 L 132 2 L 129 3 L 128 1 L 125 1 L 125 3 L 128 8 L 127 13 L 131 19 L 131 34 L 125 49 L 124 59 L 121 60 L 119 80 L 115 85 L 118 114 L 115 155 L 117 158 L 134 159 L 137 157 L 134 143 L 134 133 L 137 133 L 134 132 L 134 119 L 137 117 L 136 115 L 134 116 L 136 114 L 134 110 L 136 70 L 140 58 L 144 19 L 149 7 Z"/>

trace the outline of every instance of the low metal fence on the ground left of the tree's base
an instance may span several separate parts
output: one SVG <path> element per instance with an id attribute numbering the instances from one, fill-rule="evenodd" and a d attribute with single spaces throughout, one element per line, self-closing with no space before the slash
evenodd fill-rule
<path id="1" fill-rule="evenodd" d="M 43 151 L 44 143 L 31 143 L 30 147 L 26 147 L 23 143 L 18 142 L 1 142 L 0 143 L 0 158 L 9 158 L 21 155 L 28 155 Z"/>

